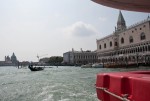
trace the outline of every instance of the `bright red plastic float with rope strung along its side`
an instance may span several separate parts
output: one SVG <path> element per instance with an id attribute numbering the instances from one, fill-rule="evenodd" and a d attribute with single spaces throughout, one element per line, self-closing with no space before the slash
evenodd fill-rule
<path id="1" fill-rule="evenodd" d="M 96 91 L 101 101 L 149 101 L 150 71 L 101 73 Z"/>

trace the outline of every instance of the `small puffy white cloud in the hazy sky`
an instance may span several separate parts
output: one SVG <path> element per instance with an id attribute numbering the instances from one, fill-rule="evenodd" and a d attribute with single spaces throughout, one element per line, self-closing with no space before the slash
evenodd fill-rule
<path id="1" fill-rule="evenodd" d="M 94 26 L 84 23 L 82 21 L 72 24 L 63 31 L 65 34 L 77 36 L 77 37 L 88 37 L 98 33 Z"/>

